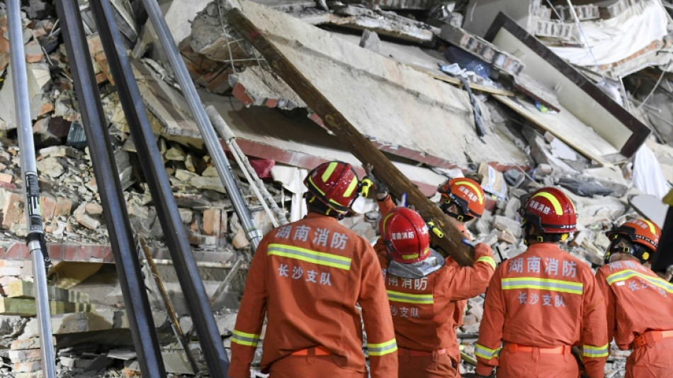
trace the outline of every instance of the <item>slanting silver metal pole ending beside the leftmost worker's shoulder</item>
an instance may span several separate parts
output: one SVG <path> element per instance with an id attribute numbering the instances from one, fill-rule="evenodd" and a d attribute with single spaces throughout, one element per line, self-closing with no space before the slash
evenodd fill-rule
<path id="1" fill-rule="evenodd" d="M 222 179 L 222 182 L 225 184 L 227 194 L 229 195 L 232 204 L 234 204 L 234 209 L 243 224 L 246 238 L 250 241 L 252 252 L 254 253 L 257 250 L 257 245 L 259 245 L 259 240 L 261 240 L 261 233 L 255 226 L 250 211 L 243 201 L 243 196 L 241 195 L 239 187 L 236 185 L 229 161 L 225 156 L 225 152 L 222 150 L 222 146 L 217 141 L 217 135 L 215 135 L 213 125 L 210 124 L 208 115 L 205 113 L 205 109 L 203 109 L 203 104 L 201 104 L 198 93 L 196 93 L 196 87 L 194 87 L 194 83 L 192 82 L 191 77 L 189 77 L 185 62 L 183 62 L 178 48 L 176 47 L 175 40 L 166 25 L 166 21 L 162 16 L 162 11 L 159 9 L 159 4 L 157 4 L 157 0 L 142 0 L 142 4 L 145 6 L 149 21 L 152 22 L 152 26 L 154 26 L 154 30 L 157 32 L 157 36 L 164 48 L 164 52 L 169 58 L 176 79 L 187 99 L 189 109 L 191 110 L 196 125 L 203 136 L 205 147 L 208 148 L 210 157 L 213 158 L 217 173 L 220 174 L 220 179 Z"/>

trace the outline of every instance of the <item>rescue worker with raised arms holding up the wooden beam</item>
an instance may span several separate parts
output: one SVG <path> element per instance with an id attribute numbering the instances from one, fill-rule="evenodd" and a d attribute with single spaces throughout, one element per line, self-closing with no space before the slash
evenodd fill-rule
<path id="1" fill-rule="evenodd" d="M 475 246 L 473 267 L 448 264 L 430 248 L 428 228 L 416 211 L 391 209 L 390 196 L 380 206 L 380 239 L 374 248 L 395 323 L 397 377 L 457 377 L 456 301 L 485 291 L 495 269 L 491 248 Z"/>

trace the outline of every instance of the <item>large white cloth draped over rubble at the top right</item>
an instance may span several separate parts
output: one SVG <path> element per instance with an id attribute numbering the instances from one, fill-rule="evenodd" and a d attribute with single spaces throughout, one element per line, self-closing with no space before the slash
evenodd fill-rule
<path id="1" fill-rule="evenodd" d="M 608 65 L 643 50 L 655 40 L 668 34 L 666 9 L 659 0 L 644 0 L 630 6 L 614 18 L 599 21 L 582 21 L 579 24 L 589 40 L 596 62 Z M 594 66 L 586 40 L 577 27 L 573 29 L 581 47 L 552 47 L 550 50 L 573 65 Z"/>

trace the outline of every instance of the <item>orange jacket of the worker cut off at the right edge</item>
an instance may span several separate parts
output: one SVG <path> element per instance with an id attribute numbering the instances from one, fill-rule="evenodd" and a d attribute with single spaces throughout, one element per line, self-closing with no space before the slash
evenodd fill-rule
<path id="1" fill-rule="evenodd" d="M 608 336 L 619 349 L 647 330 L 673 330 L 673 284 L 636 261 L 616 261 L 596 272 L 607 305 Z M 669 356 L 668 358 L 673 358 Z"/>

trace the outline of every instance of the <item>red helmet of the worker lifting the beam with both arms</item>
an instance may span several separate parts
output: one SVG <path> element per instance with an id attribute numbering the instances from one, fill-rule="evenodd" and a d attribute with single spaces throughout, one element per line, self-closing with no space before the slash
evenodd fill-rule
<path id="1" fill-rule="evenodd" d="M 379 231 L 392 260 L 409 264 L 430 256 L 428 226 L 412 209 L 392 209 L 379 223 Z"/>

